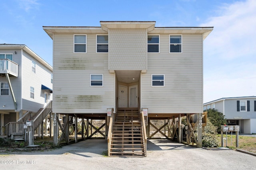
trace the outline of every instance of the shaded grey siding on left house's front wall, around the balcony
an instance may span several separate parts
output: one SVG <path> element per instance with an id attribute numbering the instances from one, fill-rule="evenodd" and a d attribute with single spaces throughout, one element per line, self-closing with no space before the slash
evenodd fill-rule
<path id="1" fill-rule="evenodd" d="M 14 51 L 16 51 L 17 54 L 14 53 Z M 17 103 L 17 109 L 21 109 L 21 103 L 20 103 L 20 99 L 21 99 L 21 50 L 0 50 L 0 53 L 12 53 L 13 54 L 13 61 L 18 65 L 18 77 L 15 76 L 10 76 L 10 82 L 12 85 L 12 90 L 14 92 L 14 96 L 16 99 L 16 103 Z M 6 77 L 0 77 L 0 82 L 8 82 Z M 4 109 L 12 109 L 14 110 L 14 103 L 12 100 L 12 94 L 9 90 L 9 96 L 0 96 L 0 103 L 1 104 L 6 104 L 6 107 L 4 107 Z M 0 105 L 0 107 L 2 107 Z M 3 109 L 3 108 L 1 108 Z"/>

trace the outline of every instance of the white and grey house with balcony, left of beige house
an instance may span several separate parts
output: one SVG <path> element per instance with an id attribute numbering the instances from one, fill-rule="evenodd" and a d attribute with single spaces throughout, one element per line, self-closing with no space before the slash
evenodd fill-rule
<path id="1" fill-rule="evenodd" d="M 0 44 L 0 125 L 36 113 L 52 100 L 52 66 L 26 45 Z"/>

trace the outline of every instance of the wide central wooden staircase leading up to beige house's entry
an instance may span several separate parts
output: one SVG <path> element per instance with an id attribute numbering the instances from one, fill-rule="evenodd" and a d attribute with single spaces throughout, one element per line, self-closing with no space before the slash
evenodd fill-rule
<path id="1" fill-rule="evenodd" d="M 138 108 L 118 108 L 112 127 L 109 156 L 146 156 Z"/>

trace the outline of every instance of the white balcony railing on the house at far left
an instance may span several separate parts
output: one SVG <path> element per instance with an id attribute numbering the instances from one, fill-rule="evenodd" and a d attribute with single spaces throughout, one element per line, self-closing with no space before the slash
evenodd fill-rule
<path id="1" fill-rule="evenodd" d="M 8 73 L 18 77 L 18 64 L 9 59 L 0 59 L 0 73 Z"/>

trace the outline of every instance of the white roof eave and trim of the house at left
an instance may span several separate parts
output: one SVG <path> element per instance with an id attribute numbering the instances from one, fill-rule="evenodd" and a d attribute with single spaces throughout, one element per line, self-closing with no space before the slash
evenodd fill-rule
<path id="1" fill-rule="evenodd" d="M 6 43 L 4 43 L 4 44 L 0 44 L 0 49 L 13 49 L 13 50 L 15 50 L 15 49 L 23 49 L 24 51 L 26 51 L 26 53 L 28 53 L 34 59 L 36 59 L 36 61 L 40 62 L 41 64 L 46 66 L 46 68 L 48 68 L 49 70 L 52 71 L 52 66 L 50 64 L 48 64 L 46 61 L 44 61 L 44 59 L 39 57 L 36 53 L 34 53 L 34 51 L 32 51 L 30 48 L 28 48 L 24 44 L 6 44 Z"/>

